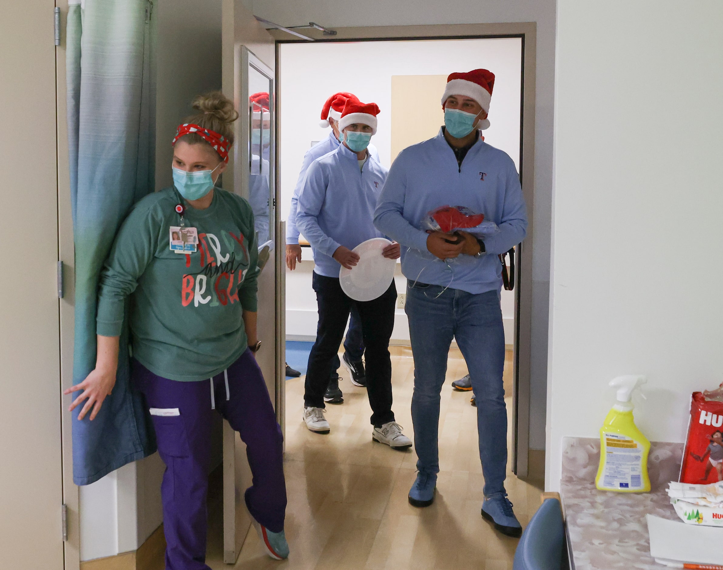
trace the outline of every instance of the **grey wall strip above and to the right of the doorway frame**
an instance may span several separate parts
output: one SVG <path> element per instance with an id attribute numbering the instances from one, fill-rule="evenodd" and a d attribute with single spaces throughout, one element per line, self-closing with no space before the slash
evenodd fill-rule
<path id="1" fill-rule="evenodd" d="M 536 22 L 535 203 L 532 266 L 530 447 L 545 446 L 555 0 L 249 0 L 254 14 L 281 25 L 328 27 Z M 610 12 L 613 13 L 613 12 Z"/>

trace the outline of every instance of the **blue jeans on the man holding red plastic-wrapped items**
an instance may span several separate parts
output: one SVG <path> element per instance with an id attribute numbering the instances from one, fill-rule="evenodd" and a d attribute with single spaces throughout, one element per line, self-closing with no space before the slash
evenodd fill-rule
<path id="1" fill-rule="evenodd" d="M 414 352 L 414 450 L 419 472 L 440 471 L 437 437 L 440 392 L 445 383 L 452 339 L 467 362 L 477 401 L 479 459 L 484 495 L 505 493 L 507 409 L 502 370 L 505 331 L 497 291 L 471 294 L 461 289 L 412 282 L 407 284 L 406 314 Z"/>

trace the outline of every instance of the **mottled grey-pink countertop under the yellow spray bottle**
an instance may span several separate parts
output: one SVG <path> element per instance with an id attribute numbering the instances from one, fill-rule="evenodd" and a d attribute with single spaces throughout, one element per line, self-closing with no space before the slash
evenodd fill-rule
<path id="1" fill-rule="evenodd" d="M 651 443 L 650 493 L 614 493 L 595 488 L 600 441 L 565 438 L 560 496 L 574 570 L 660 570 L 650 556 L 646 514 L 679 520 L 666 493 L 677 481 L 682 443 Z"/>

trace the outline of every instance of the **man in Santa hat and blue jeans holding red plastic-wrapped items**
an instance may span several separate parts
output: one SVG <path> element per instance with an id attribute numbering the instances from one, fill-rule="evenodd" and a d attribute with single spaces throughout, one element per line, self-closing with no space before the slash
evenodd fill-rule
<path id="1" fill-rule="evenodd" d="M 495 76 L 487 69 L 453 73 L 442 96 L 439 134 L 399 153 L 375 211 L 375 226 L 402 247 L 406 314 L 414 352 L 411 414 L 417 454 L 414 506 L 435 498 L 439 467 L 440 391 L 452 339 L 467 362 L 477 404 L 479 457 L 484 474 L 482 516 L 505 535 L 522 532 L 505 491 L 507 411 L 502 388 L 505 333 L 497 255 L 523 240 L 526 208 L 512 159 L 484 141 Z M 427 233 L 421 223 L 443 205 L 483 213 L 499 230 L 484 239 Z"/>

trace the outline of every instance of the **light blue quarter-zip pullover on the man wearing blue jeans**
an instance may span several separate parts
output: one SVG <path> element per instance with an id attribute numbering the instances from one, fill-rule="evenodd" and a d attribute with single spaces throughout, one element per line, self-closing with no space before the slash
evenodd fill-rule
<path id="1" fill-rule="evenodd" d="M 427 250 L 422 220 L 444 205 L 466 206 L 500 226 L 497 234 L 484 239 L 485 255 L 460 255 L 445 263 Z M 374 223 L 402 245 L 406 278 L 479 294 L 502 286 L 497 254 L 524 239 L 527 213 L 520 178 L 507 153 L 478 140 L 458 166 L 440 129 L 436 137 L 399 153 L 382 190 Z"/>

